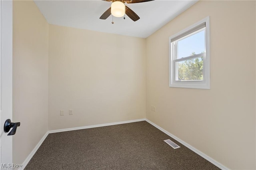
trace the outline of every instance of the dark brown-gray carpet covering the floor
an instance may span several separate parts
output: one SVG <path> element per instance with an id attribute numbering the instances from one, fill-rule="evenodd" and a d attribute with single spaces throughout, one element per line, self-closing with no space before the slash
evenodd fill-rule
<path id="1" fill-rule="evenodd" d="M 52 133 L 25 170 L 219 169 L 146 121 Z"/>

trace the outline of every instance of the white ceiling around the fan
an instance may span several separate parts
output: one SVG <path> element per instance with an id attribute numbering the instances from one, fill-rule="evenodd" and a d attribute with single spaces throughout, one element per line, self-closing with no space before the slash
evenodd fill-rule
<path id="1" fill-rule="evenodd" d="M 140 20 L 128 16 L 100 20 L 112 2 L 102 0 L 34 0 L 49 24 L 147 38 L 156 30 L 195 4 L 198 0 L 154 0 L 127 4 Z"/>

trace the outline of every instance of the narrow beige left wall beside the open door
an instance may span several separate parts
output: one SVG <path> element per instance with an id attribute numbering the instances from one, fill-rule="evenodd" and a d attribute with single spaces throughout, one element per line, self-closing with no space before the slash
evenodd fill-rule
<path id="1" fill-rule="evenodd" d="M 13 121 L 21 164 L 48 131 L 48 23 L 34 1 L 13 2 Z"/>

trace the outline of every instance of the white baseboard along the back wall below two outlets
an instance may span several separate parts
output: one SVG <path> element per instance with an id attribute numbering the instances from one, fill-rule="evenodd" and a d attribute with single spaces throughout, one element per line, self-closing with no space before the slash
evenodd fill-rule
<path id="1" fill-rule="evenodd" d="M 49 133 L 66 132 L 66 131 L 70 131 L 70 130 L 80 130 L 80 129 L 86 129 L 86 128 L 106 127 L 106 126 L 111 126 L 111 125 L 120 125 L 120 124 L 124 124 L 124 123 L 133 123 L 133 122 L 140 122 L 140 121 L 146 121 L 146 119 L 136 119 L 136 120 L 132 120 L 132 121 L 123 121 L 123 122 L 116 122 L 116 123 L 91 125 L 91 126 L 85 126 L 85 127 L 75 127 L 75 128 L 64 128 L 64 129 L 58 129 L 58 130 L 50 130 Z"/>

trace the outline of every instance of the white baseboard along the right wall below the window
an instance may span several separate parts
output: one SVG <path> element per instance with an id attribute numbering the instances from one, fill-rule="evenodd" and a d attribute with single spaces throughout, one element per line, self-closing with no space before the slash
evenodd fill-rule
<path id="1" fill-rule="evenodd" d="M 187 148 L 189 148 L 190 150 L 194 151 L 196 154 L 202 156 L 204 159 L 208 160 L 209 162 L 211 162 L 212 164 L 214 164 L 215 166 L 217 166 L 218 168 L 222 169 L 222 170 L 228 170 L 227 167 L 225 167 L 224 165 L 220 164 L 219 162 L 217 162 L 216 160 L 214 160 L 213 158 L 211 158 L 210 156 L 207 156 L 206 154 L 204 154 L 203 152 L 201 152 L 200 150 L 197 150 L 196 148 L 194 148 L 193 146 L 191 146 L 190 144 L 184 142 L 183 140 L 181 140 L 180 138 L 174 136 L 173 134 L 171 134 L 170 132 L 167 132 L 166 130 L 164 130 L 163 128 L 159 127 L 158 125 L 154 124 L 153 122 L 149 121 L 148 119 L 146 119 L 146 121 L 148 123 L 150 123 L 151 125 L 153 125 L 154 127 L 158 128 L 159 130 L 161 130 L 162 132 L 164 132 L 165 134 L 167 134 L 168 136 L 174 138 L 175 140 L 177 140 L 178 142 L 180 142 L 181 144 L 183 144 L 184 146 L 186 146 Z"/>

